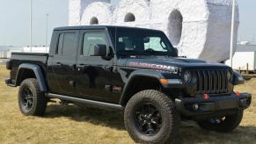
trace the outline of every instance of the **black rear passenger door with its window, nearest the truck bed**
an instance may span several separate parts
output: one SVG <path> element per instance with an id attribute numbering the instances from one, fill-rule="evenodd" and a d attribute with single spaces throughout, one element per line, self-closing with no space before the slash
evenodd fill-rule
<path id="1" fill-rule="evenodd" d="M 53 71 L 58 90 L 55 93 L 76 96 L 76 64 L 79 31 L 59 32 L 53 58 Z"/>

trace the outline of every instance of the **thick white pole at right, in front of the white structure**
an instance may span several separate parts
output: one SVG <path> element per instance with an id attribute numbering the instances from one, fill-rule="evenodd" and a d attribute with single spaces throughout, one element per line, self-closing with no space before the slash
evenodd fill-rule
<path id="1" fill-rule="evenodd" d="M 230 67 L 233 68 L 233 53 L 234 53 L 234 30 L 235 30 L 235 14 L 236 14 L 236 0 L 233 1 L 232 20 L 231 20 L 231 36 L 230 36 Z M 237 45 L 237 43 L 236 43 Z"/>

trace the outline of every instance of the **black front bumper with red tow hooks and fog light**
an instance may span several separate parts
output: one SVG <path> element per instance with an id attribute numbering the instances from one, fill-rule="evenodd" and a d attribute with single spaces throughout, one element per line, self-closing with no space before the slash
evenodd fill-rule
<path id="1" fill-rule="evenodd" d="M 238 97 L 235 93 L 229 96 L 209 97 L 208 99 L 183 97 L 176 98 L 176 109 L 181 116 L 195 119 L 227 115 L 231 112 L 248 108 L 252 101 L 252 94 L 241 93 Z"/>

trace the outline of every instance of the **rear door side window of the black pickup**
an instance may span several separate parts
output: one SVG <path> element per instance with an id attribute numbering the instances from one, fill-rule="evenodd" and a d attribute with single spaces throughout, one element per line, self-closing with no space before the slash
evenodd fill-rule
<path id="1" fill-rule="evenodd" d="M 60 34 L 57 54 L 73 55 L 76 53 L 77 34 L 75 32 L 66 32 Z"/>

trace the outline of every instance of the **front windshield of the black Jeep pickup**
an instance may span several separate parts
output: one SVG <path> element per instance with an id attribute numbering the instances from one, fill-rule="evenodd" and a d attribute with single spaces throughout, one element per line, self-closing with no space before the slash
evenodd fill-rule
<path id="1" fill-rule="evenodd" d="M 164 32 L 143 29 L 117 29 L 119 55 L 173 55 L 174 49 Z"/>

